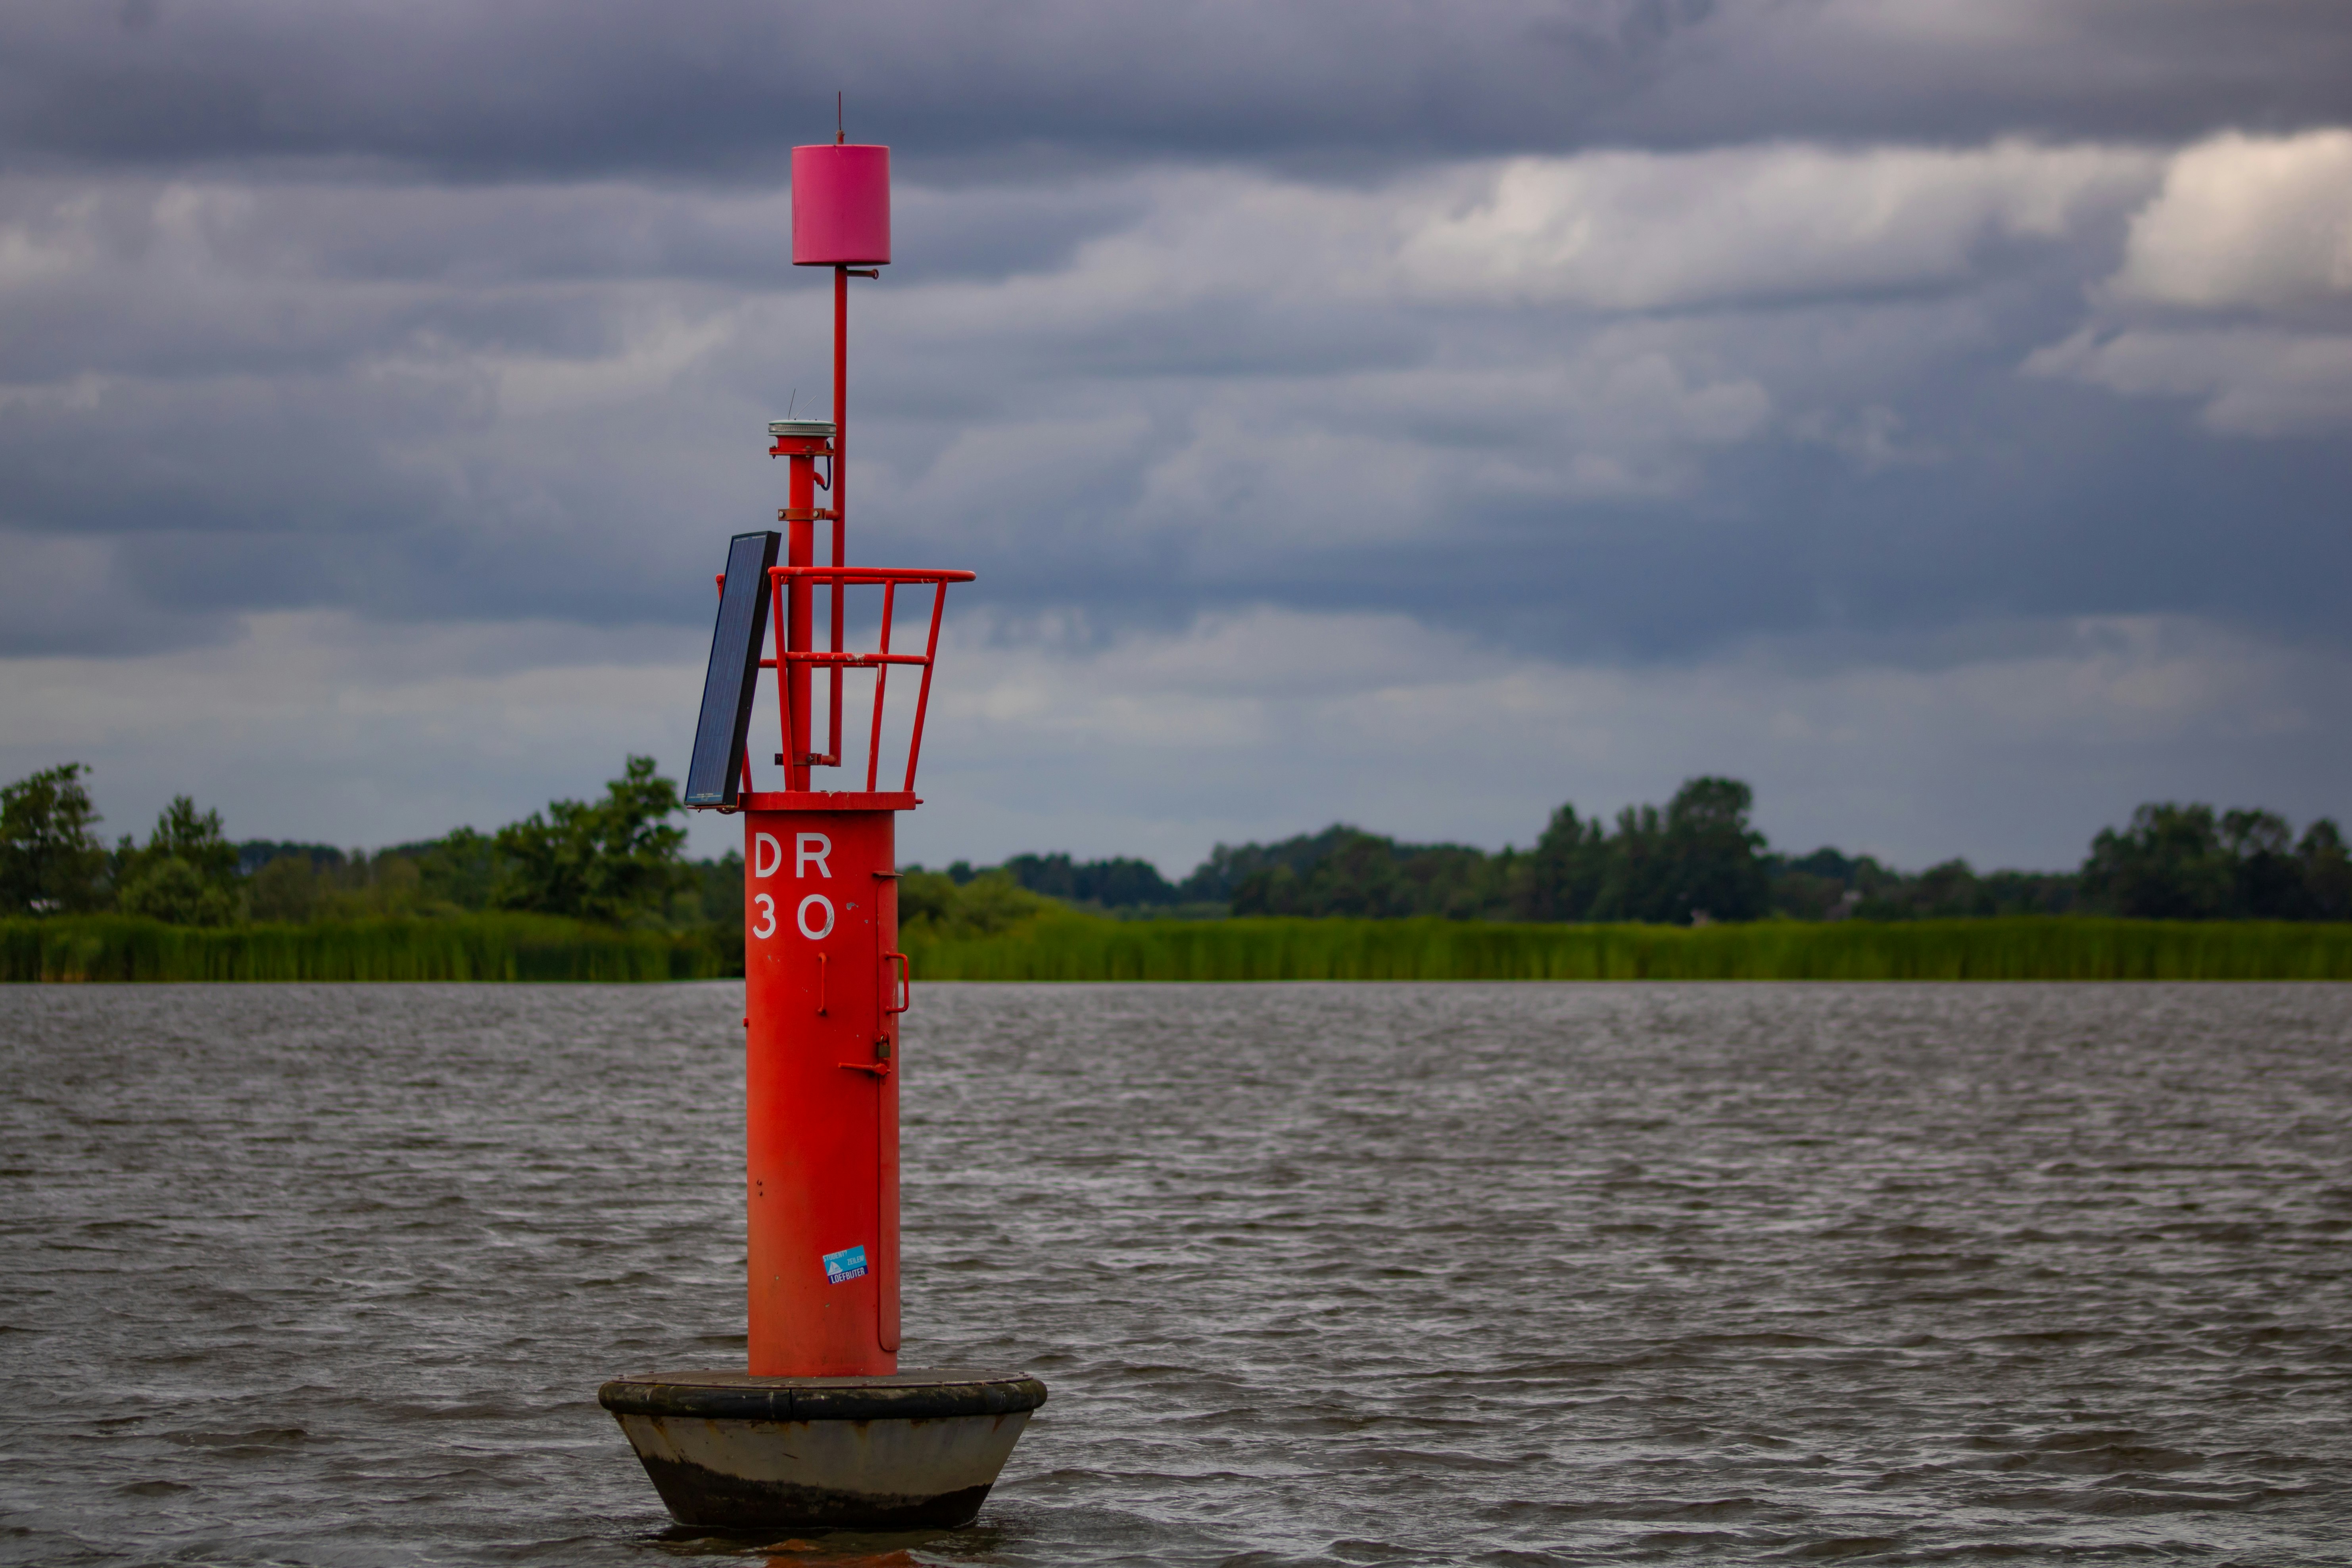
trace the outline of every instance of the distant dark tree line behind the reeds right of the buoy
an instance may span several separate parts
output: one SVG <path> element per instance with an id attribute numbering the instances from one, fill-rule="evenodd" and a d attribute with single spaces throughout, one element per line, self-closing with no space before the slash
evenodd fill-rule
<path id="1" fill-rule="evenodd" d="M 1345 914 L 1505 922 L 1708 924 L 1748 919 L 2352 919 L 2352 858 L 2331 818 L 2300 837 L 2274 811 L 2157 802 L 2091 839 L 2072 872 L 1978 872 L 1945 860 L 1898 872 L 1872 856 L 1778 853 L 1750 820 L 1755 790 L 1691 778 L 1665 806 L 1616 820 L 1552 811 L 1531 849 L 1406 844 L 1334 823 L 1275 844 L 1218 844 L 1183 882 L 1148 860 L 1014 856 L 985 879 L 1112 914 Z"/>

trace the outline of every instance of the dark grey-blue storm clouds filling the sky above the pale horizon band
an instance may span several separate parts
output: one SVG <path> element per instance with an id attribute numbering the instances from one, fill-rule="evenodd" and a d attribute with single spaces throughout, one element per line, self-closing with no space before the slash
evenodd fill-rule
<path id="1" fill-rule="evenodd" d="M 2340 639 L 2333 339 L 2234 343 L 2319 414 L 2223 428 L 2143 331 L 2201 306 L 2114 287 L 2178 139 L 2343 108 L 2338 14 L 9 7 L 0 559 L 47 588 L 0 646 L 699 621 L 691 541 L 769 515 L 760 421 L 823 397 L 774 153 L 830 82 L 913 153 L 861 538 L 981 567 L 1002 625 Z M 1588 141 L 1724 146 L 1461 160 Z"/>

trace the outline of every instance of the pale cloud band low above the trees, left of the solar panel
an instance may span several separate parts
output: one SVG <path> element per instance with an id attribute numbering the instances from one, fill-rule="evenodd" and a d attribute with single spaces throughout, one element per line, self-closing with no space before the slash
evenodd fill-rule
<path id="1" fill-rule="evenodd" d="M 684 766 L 696 637 L 261 614 L 153 658 L 0 661 L 0 764 L 94 764 L 111 832 L 179 792 L 233 837 L 393 844 L 593 795 L 628 752 Z"/>

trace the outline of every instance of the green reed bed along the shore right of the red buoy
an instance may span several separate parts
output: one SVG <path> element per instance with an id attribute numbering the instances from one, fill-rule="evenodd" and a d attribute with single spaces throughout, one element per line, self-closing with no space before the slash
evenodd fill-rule
<path id="1" fill-rule="evenodd" d="M 2352 980 L 2352 926 L 2150 919 L 1534 926 L 1049 914 L 901 945 L 924 980 Z"/>

